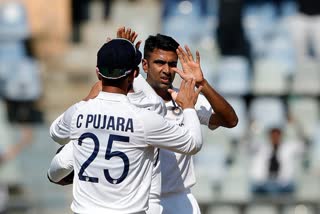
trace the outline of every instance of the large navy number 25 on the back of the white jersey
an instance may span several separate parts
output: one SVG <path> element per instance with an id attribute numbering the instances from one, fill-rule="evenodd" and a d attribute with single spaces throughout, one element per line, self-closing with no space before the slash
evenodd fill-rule
<path id="1" fill-rule="evenodd" d="M 90 155 L 90 157 L 82 164 L 78 176 L 79 176 L 79 180 L 81 181 L 87 181 L 87 182 L 92 182 L 92 183 L 98 183 L 99 179 L 96 177 L 90 177 L 90 176 L 85 176 L 83 175 L 84 170 L 92 163 L 92 161 L 94 161 L 94 159 L 97 157 L 98 152 L 99 152 L 99 148 L 100 148 L 100 143 L 99 143 L 99 139 L 97 138 L 96 135 L 92 134 L 92 133 L 84 133 L 80 136 L 78 144 L 81 146 L 82 145 L 82 141 L 86 138 L 90 138 L 93 140 L 94 143 L 94 149 L 92 154 Z M 106 155 L 105 155 L 105 159 L 106 160 L 110 160 L 113 157 L 119 157 L 122 159 L 123 163 L 124 163 L 124 169 L 122 172 L 122 175 L 115 179 L 112 178 L 110 176 L 109 170 L 108 169 L 104 169 L 104 177 L 107 179 L 107 181 L 109 183 L 112 184 L 119 184 L 121 183 L 128 175 L 129 172 L 129 158 L 128 156 L 120 151 L 113 151 L 111 152 L 111 148 L 112 148 L 112 144 L 113 141 L 120 141 L 120 142 L 129 142 L 129 137 L 126 136 L 120 136 L 120 135 L 110 135 L 109 136 L 109 140 L 108 140 L 108 146 L 107 146 L 107 151 L 106 151 Z"/>

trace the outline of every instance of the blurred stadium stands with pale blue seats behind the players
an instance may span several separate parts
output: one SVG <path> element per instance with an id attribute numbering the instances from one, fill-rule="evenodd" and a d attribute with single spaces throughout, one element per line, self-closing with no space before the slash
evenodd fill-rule
<path id="1" fill-rule="evenodd" d="M 46 178 L 58 148 L 49 125 L 88 93 L 98 47 L 120 26 L 199 50 L 206 79 L 239 116 L 232 130 L 204 130 L 193 188 L 204 214 L 320 213 L 320 36 L 303 46 L 299 13 L 295 0 L 1 0 L 0 152 L 22 144 L 0 159 L 3 213 L 71 213 L 71 187 Z M 259 199 L 249 148 L 267 141 L 271 126 L 302 140 L 304 154 L 292 163 L 296 191 Z"/>

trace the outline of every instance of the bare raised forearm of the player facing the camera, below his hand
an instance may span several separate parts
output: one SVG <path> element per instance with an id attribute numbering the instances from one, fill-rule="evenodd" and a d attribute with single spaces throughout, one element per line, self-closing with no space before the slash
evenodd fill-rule
<path id="1" fill-rule="evenodd" d="M 210 120 L 211 126 L 224 126 L 228 128 L 235 127 L 238 124 L 238 117 L 232 106 L 204 80 L 201 90 L 202 94 L 210 103 L 218 120 Z M 215 124 L 216 123 L 216 124 Z"/>

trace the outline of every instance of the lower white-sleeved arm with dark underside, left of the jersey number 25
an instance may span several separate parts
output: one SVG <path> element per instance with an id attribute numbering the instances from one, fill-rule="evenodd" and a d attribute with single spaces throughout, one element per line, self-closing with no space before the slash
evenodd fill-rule
<path id="1" fill-rule="evenodd" d="M 50 182 L 59 185 L 73 183 L 73 144 L 68 143 L 58 149 L 47 173 Z"/>

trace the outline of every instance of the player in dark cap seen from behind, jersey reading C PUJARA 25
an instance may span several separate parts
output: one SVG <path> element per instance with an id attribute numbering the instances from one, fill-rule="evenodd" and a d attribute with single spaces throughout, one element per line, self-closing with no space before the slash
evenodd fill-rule
<path id="1" fill-rule="evenodd" d="M 73 144 L 75 213 L 145 213 L 154 147 L 195 154 L 202 145 L 194 104 L 202 87 L 183 81 L 176 102 L 185 115 L 184 127 L 168 123 L 154 112 L 132 105 L 126 94 L 137 65 L 136 49 L 114 39 L 98 52 L 97 72 L 102 92 L 71 106 L 50 127 L 51 137 Z"/>

